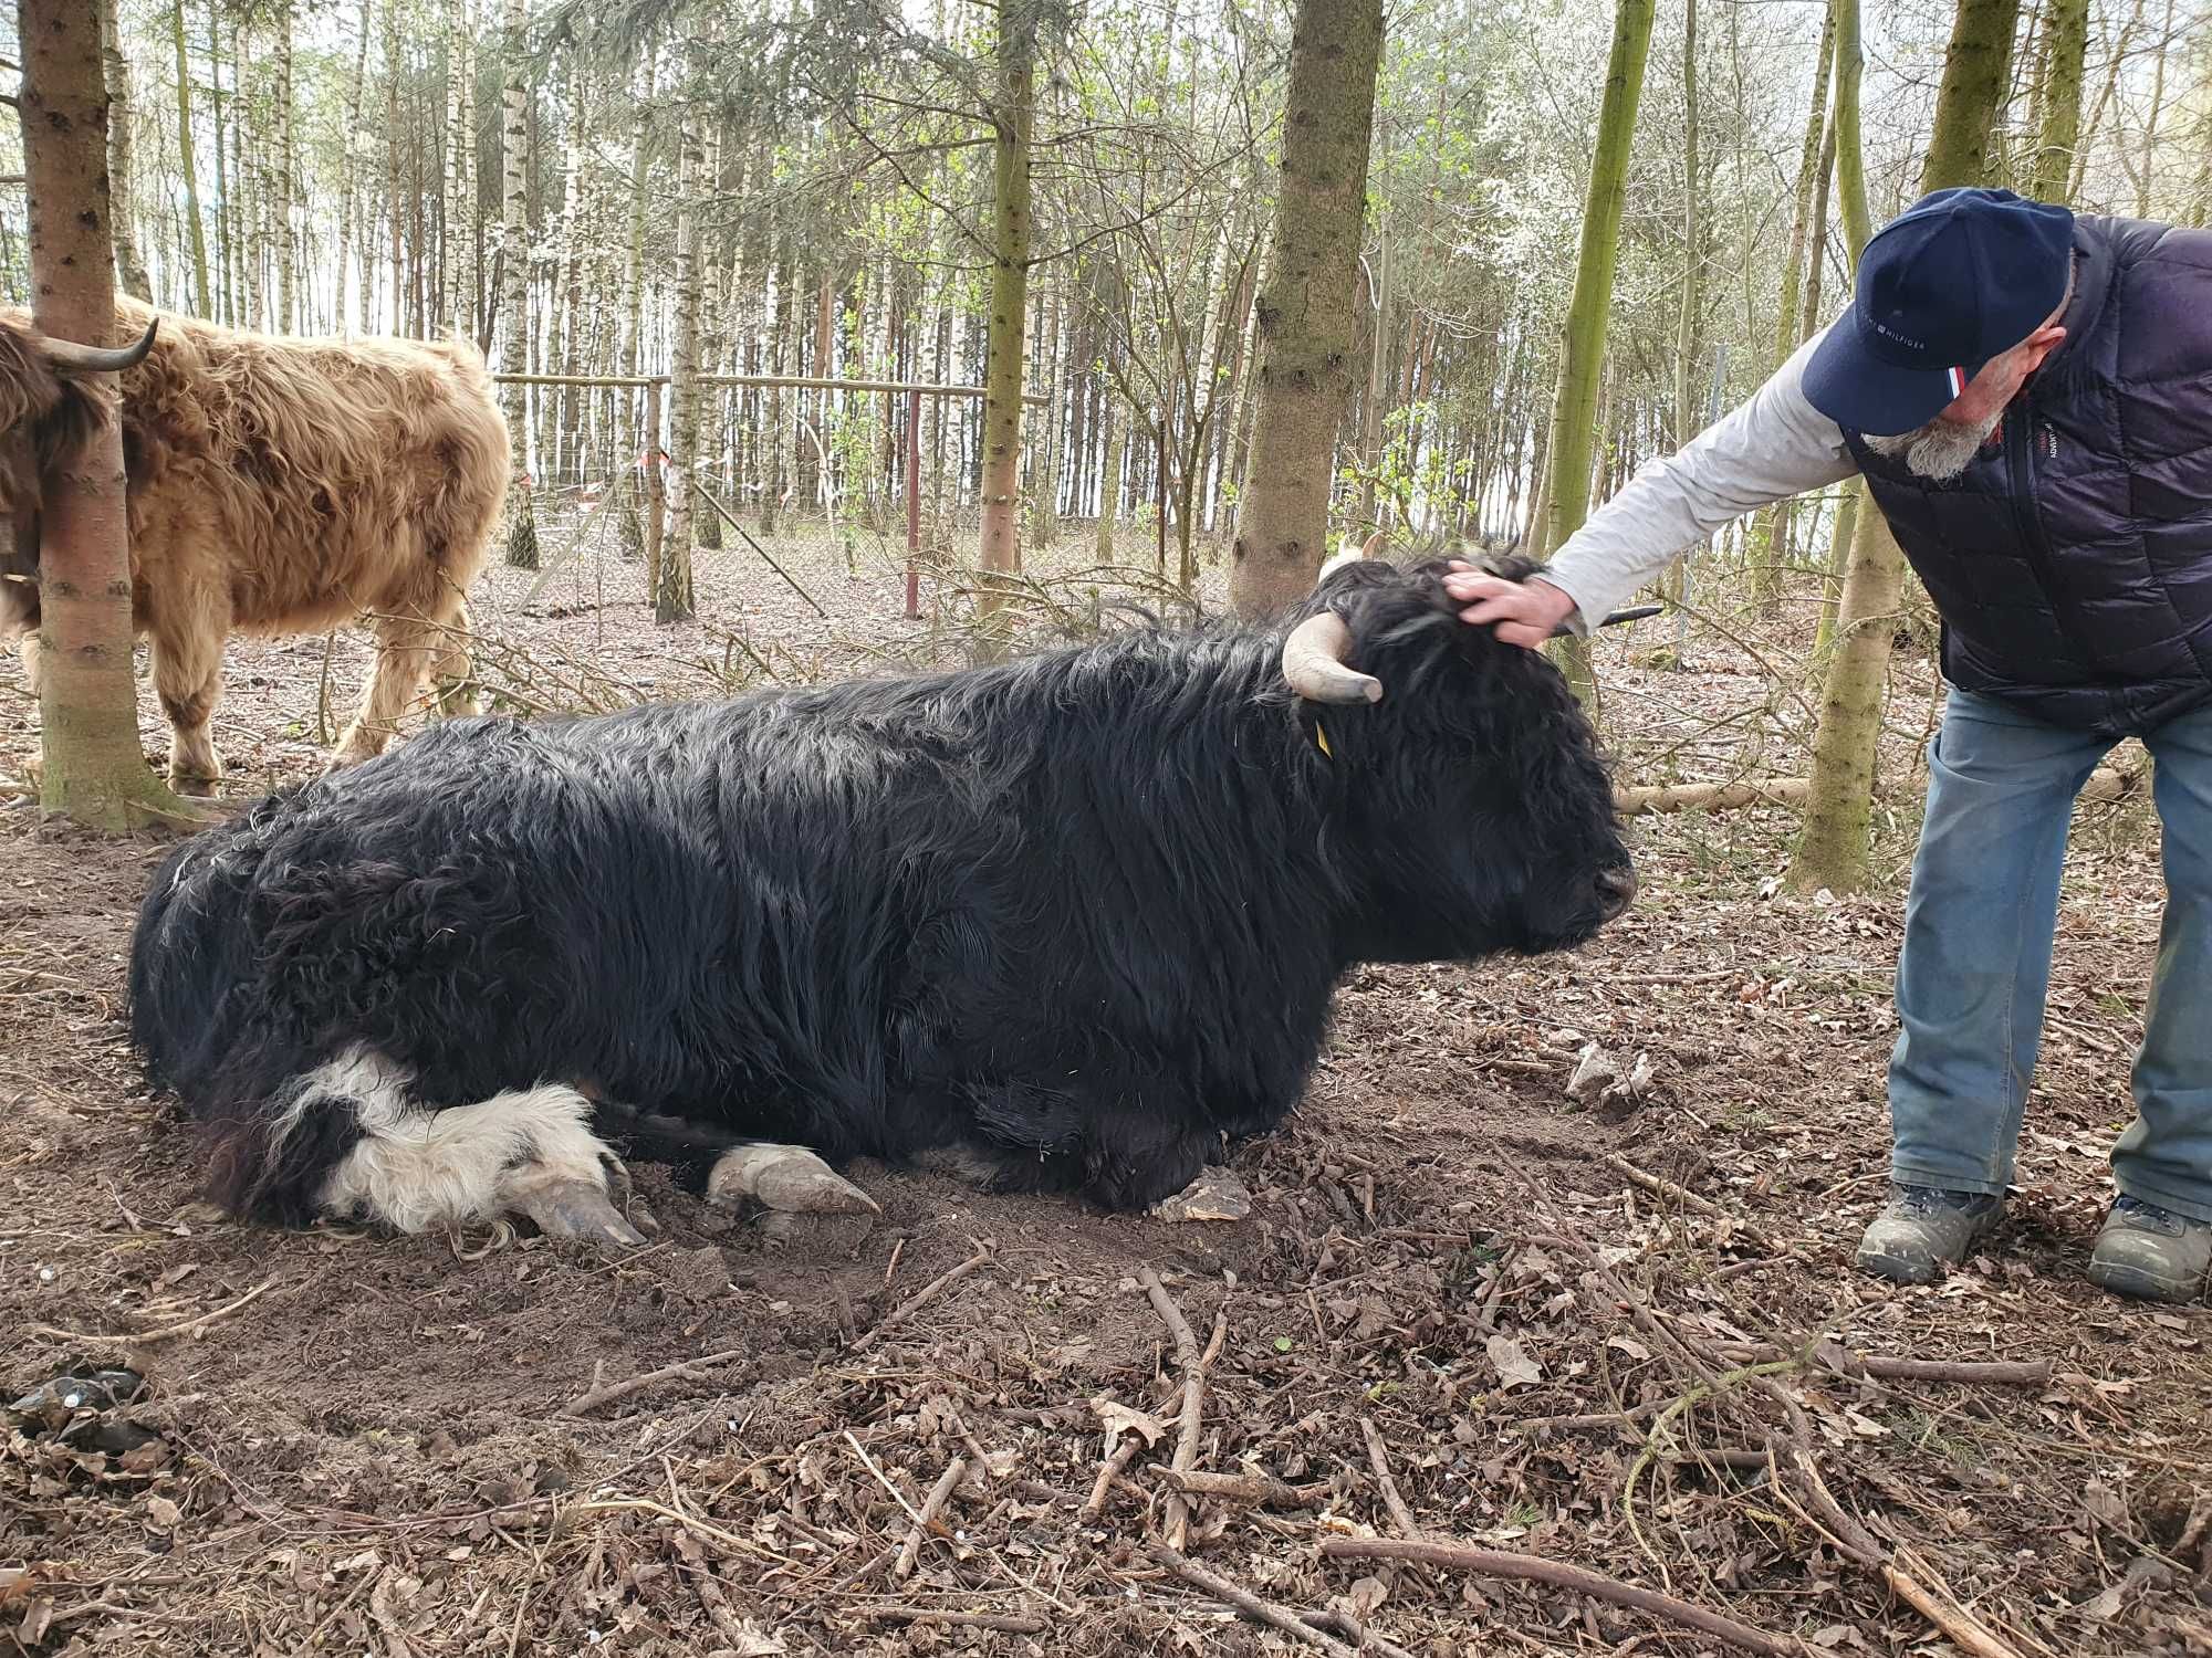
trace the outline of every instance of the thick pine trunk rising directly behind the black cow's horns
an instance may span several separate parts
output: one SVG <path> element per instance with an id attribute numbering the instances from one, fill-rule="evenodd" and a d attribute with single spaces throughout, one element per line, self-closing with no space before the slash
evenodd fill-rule
<path id="1" fill-rule="evenodd" d="M 1332 455 L 1352 396 L 1352 305 L 1380 57 L 1380 0 L 1298 0 L 1283 181 L 1254 307 L 1252 451 L 1230 566 L 1230 608 L 1245 619 L 1303 599 L 1327 550 Z"/>

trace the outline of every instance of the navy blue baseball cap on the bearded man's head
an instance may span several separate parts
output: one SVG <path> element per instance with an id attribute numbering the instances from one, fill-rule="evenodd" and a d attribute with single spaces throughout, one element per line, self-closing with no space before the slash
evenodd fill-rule
<path id="1" fill-rule="evenodd" d="M 2073 214 L 2011 190 L 1936 190 L 1858 256 L 1851 309 L 1805 363 L 1805 398 L 1847 431 L 1933 420 L 1989 358 L 2059 307 Z"/>

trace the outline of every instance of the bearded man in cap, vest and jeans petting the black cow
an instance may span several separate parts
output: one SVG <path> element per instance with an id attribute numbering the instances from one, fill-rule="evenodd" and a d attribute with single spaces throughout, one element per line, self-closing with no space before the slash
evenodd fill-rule
<path id="1" fill-rule="evenodd" d="M 2088 1276 L 2188 1300 L 2212 1260 L 2212 232 L 1938 190 L 1867 243 L 1836 323 L 1544 575 L 1447 588 L 1535 648 L 1851 473 L 1936 601 L 1949 681 L 1896 975 L 1891 1200 L 1858 1265 L 1929 1282 L 1997 1222 L 2073 802 L 2137 736 L 2168 898 Z"/>

